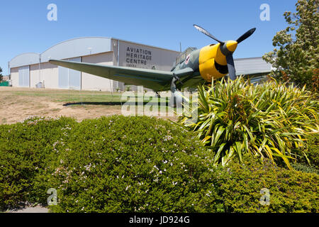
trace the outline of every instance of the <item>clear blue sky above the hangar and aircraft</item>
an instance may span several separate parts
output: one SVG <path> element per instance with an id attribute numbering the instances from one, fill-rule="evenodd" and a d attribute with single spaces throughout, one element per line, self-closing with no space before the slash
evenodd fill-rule
<path id="1" fill-rule="evenodd" d="M 48 4 L 57 5 L 57 21 L 47 20 Z M 261 21 L 260 5 L 269 4 L 270 21 Z M 196 31 L 196 23 L 220 40 L 236 40 L 250 28 L 257 31 L 240 43 L 235 58 L 259 57 L 273 49 L 272 38 L 286 28 L 285 11 L 296 0 L 5 0 L 0 5 L 0 67 L 23 52 L 43 52 L 71 38 L 103 36 L 160 48 L 201 48 L 215 41 Z"/>

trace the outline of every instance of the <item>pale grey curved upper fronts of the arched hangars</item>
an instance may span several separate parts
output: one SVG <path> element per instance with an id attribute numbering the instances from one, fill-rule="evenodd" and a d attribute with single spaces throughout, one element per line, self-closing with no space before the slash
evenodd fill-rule
<path id="1" fill-rule="evenodd" d="M 24 65 L 38 64 L 40 58 L 41 62 L 48 62 L 50 59 L 66 59 L 109 51 L 111 51 L 111 38 L 74 38 L 58 43 L 41 54 L 29 52 L 13 57 L 9 65 L 11 68 L 21 67 Z"/>

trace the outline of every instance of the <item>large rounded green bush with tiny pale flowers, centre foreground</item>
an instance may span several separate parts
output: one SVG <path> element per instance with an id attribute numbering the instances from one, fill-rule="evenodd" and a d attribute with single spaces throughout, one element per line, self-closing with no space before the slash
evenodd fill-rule
<path id="1" fill-rule="evenodd" d="M 191 210 L 207 151 L 180 126 L 155 118 L 113 116 L 86 120 L 48 170 L 57 189 L 56 212 Z"/>

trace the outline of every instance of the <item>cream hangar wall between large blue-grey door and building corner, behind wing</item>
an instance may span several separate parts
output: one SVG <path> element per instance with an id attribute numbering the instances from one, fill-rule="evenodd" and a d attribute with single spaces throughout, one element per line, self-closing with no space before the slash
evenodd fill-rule
<path id="1" fill-rule="evenodd" d="M 82 62 L 113 65 L 113 52 L 106 52 L 97 55 L 82 57 Z M 82 90 L 101 90 L 111 92 L 113 89 L 113 80 L 103 77 L 97 77 L 92 74 L 82 72 Z"/>

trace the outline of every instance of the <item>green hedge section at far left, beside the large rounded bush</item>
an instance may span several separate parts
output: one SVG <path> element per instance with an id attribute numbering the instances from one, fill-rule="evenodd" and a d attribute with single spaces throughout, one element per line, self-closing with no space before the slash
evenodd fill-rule
<path id="1" fill-rule="evenodd" d="M 62 128 L 75 124 L 71 118 L 30 118 L 23 123 L 0 126 L 0 209 L 38 201 L 35 177 L 56 160 L 52 144 L 65 138 Z M 46 196 L 46 195 L 45 195 Z"/>

